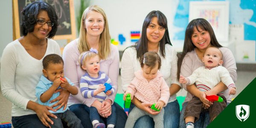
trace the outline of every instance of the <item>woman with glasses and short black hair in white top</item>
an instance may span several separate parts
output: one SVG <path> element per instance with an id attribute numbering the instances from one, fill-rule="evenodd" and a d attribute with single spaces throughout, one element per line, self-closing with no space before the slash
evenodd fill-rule
<path id="1" fill-rule="evenodd" d="M 46 55 L 61 55 L 60 47 L 53 41 L 58 16 L 55 9 L 43 1 L 26 6 L 21 12 L 21 38 L 9 43 L 1 59 L 1 90 L 12 102 L 12 125 L 14 128 L 47 128 L 54 124 L 49 116 L 57 118 L 48 110 L 66 109 L 70 93 L 60 92 L 52 107 L 39 105 L 35 87 L 42 75 L 42 60 Z M 55 102 L 51 101 L 51 102 Z M 53 109 L 60 105 L 57 109 Z"/>

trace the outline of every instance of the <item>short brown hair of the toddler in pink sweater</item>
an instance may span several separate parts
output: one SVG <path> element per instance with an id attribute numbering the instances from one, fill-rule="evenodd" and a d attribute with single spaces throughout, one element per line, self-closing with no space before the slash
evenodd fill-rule
<path id="1" fill-rule="evenodd" d="M 143 68 L 144 64 L 150 68 L 150 71 L 158 64 L 157 69 L 160 70 L 161 57 L 157 54 L 157 52 L 146 52 L 140 60 L 140 67 Z"/>

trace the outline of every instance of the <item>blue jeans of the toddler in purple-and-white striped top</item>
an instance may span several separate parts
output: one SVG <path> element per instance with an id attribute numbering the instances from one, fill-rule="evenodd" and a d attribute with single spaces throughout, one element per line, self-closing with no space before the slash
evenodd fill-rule
<path id="1" fill-rule="evenodd" d="M 85 111 L 87 111 L 87 113 L 90 114 L 90 121 L 93 122 L 93 120 L 98 120 L 99 119 L 99 112 L 97 110 L 97 108 L 91 106 L 88 107 L 86 105 L 84 105 L 84 109 Z M 107 118 L 107 125 L 112 124 L 112 125 L 116 125 L 116 106 L 115 105 L 111 105 L 111 115 L 108 116 Z"/>

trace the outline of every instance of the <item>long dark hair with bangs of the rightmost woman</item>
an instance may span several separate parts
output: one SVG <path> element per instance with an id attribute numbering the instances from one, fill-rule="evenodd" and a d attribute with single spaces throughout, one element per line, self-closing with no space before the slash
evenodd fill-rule
<path id="1" fill-rule="evenodd" d="M 198 19 L 194 19 L 194 20 L 190 21 L 189 25 L 186 27 L 183 52 L 180 52 L 177 54 L 177 56 L 178 56 L 177 80 L 180 79 L 180 68 L 181 68 L 181 64 L 182 64 L 184 56 L 186 55 L 187 52 L 191 52 L 192 50 L 195 49 L 195 45 L 193 44 L 192 39 L 191 39 L 192 34 L 194 33 L 194 27 L 196 27 L 197 30 L 198 30 L 198 27 L 200 27 L 204 31 L 209 32 L 212 46 L 217 47 L 217 48 L 222 47 L 218 43 L 218 41 L 215 37 L 215 34 L 213 32 L 212 26 L 210 25 L 210 23 L 207 20 L 205 20 L 203 18 L 198 18 Z M 198 32 L 199 32 L 199 30 L 198 30 Z"/>

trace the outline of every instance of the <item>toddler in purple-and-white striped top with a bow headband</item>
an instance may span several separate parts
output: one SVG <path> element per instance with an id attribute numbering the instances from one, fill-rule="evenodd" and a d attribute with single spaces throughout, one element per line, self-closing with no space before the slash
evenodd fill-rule
<path id="1" fill-rule="evenodd" d="M 104 72 L 99 71 L 99 55 L 96 49 L 91 48 L 90 51 L 82 52 L 79 56 L 79 63 L 80 67 L 83 70 L 86 70 L 86 73 L 81 76 L 80 80 L 80 90 L 84 98 L 95 97 L 99 102 L 103 102 L 108 98 L 108 95 L 112 95 L 116 91 L 111 82 L 111 79 L 109 79 L 109 77 Z M 108 90 L 106 93 L 103 92 L 106 89 L 106 87 L 103 85 L 105 83 L 108 83 L 112 86 L 112 89 Z M 104 123 L 99 123 L 100 114 L 95 107 L 85 106 L 84 109 L 90 114 L 93 128 L 105 128 Z M 111 112 L 111 115 L 106 119 L 108 126 L 107 128 L 114 128 L 116 123 L 115 105 L 111 105 L 109 112 Z"/>

